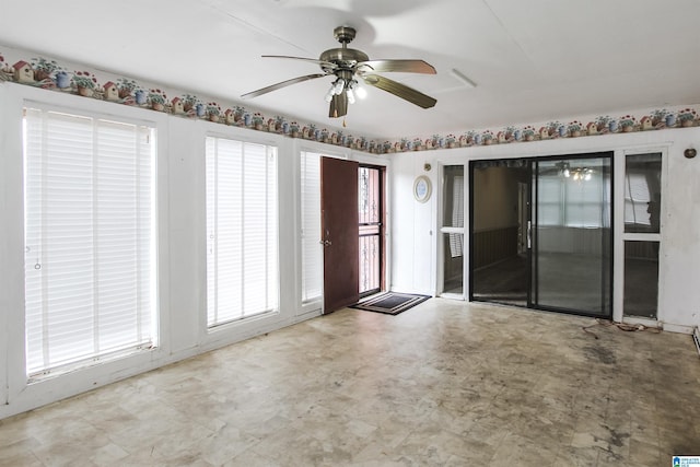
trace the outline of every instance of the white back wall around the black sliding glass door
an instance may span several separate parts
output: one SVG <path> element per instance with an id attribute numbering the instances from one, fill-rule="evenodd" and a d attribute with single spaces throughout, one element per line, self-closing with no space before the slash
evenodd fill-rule
<path id="1" fill-rule="evenodd" d="M 394 196 L 398 200 L 392 222 L 392 248 L 397 256 L 393 264 L 393 287 L 415 292 L 434 293 L 438 289 L 435 271 L 439 265 L 427 265 L 425 258 L 435 258 L 439 237 L 428 235 L 434 231 L 441 190 L 436 189 L 425 205 L 413 201 L 412 180 L 423 175 L 423 164 L 433 170 L 428 175 L 434 186 L 440 184 L 440 165 L 467 164 L 470 160 L 533 157 L 584 152 L 615 151 L 622 160 L 625 151 L 665 151 L 663 173 L 662 245 L 660 253 L 658 320 L 665 329 L 689 331 L 700 325 L 700 156 L 689 160 L 684 150 L 700 149 L 700 128 L 653 130 L 597 137 L 493 144 L 451 150 L 417 151 L 393 155 Z M 468 168 L 468 166 L 466 167 Z M 616 186 L 621 186 L 621 171 L 616 173 Z M 465 174 L 465 179 L 468 179 Z M 466 189 L 467 198 L 469 189 Z M 466 205 L 468 206 L 468 203 Z M 615 214 L 621 222 L 621 213 Z M 467 220 L 468 221 L 468 220 Z M 470 227 L 465 226 L 465 232 Z M 615 265 L 622 265 L 621 237 L 616 235 Z M 424 268 L 430 268 L 428 272 Z M 423 271 L 417 275 L 416 271 Z M 469 267 L 465 266 L 465 273 Z M 622 293 L 621 276 L 616 275 L 615 296 Z M 467 276 L 465 276 L 465 282 Z M 616 300 L 614 317 L 622 317 L 621 301 Z"/>

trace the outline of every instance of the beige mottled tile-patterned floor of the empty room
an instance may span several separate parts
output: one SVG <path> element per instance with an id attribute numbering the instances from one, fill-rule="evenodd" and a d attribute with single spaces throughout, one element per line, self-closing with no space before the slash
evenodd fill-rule
<path id="1" fill-rule="evenodd" d="M 432 299 L 342 310 L 0 421 L 1 466 L 670 466 L 689 336 Z"/>

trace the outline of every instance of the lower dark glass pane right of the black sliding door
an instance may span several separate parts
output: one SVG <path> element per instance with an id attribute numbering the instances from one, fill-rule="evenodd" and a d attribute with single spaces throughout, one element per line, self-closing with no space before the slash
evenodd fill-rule
<path id="1" fill-rule="evenodd" d="M 656 319 L 658 242 L 625 242 L 625 314 Z"/>

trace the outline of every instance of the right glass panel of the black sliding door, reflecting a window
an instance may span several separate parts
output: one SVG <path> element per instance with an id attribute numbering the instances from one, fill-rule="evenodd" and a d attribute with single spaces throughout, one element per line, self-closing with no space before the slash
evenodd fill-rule
<path id="1" fill-rule="evenodd" d="M 611 315 L 610 161 L 533 163 L 533 306 Z"/>

